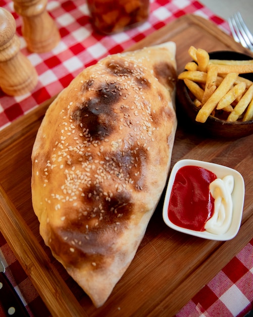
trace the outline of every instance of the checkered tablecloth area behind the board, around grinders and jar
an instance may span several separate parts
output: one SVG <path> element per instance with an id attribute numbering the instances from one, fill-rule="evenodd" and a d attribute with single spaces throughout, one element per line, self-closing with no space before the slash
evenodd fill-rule
<path id="1" fill-rule="evenodd" d="M 186 13 L 201 15 L 228 30 L 225 21 L 197 1 L 151 0 L 150 17 L 147 22 L 124 33 L 103 36 L 93 31 L 85 0 L 49 0 L 47 11 L 57 23 L 61 42 L 51 52 L 36 54 L 27 51 L 21 33 L 22 19 L 14 12 L 13 2 L 0 0 L 0 6 L 13 13 L 21 41 L 21 51 L 35 66 L 39 80 L 32 93 L 24 96 L 10 97 L 0 89 L 0 129 L 58 94 L 84 67 L 96 63 L 108 54 L 122 52 Z"/>

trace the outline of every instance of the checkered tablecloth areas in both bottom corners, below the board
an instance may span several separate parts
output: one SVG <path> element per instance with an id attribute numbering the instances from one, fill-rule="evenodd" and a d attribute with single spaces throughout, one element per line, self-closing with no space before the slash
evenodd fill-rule
<path id="1" fill-rule="evenodd" d="M 0 233 L 6 275 L 34 317 L 50 314 Z M 1 258 L 1 255 L 0 255 Z M 181 310 L 176 317 L 243 317 L 253 307 L 253 239 Z M 1 314 L 0 305 L 0 316 Z"/>

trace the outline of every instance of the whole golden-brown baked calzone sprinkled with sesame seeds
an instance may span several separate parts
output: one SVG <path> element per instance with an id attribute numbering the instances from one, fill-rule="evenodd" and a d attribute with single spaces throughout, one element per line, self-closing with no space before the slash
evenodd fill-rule
<path id="1" fill-rule="evenodd" d="M 32 202 L 54 256 L 101 306 L 164 189 L 176 130 L 175 45 L 109 56 L 48 108 L 32 152 Z"/>

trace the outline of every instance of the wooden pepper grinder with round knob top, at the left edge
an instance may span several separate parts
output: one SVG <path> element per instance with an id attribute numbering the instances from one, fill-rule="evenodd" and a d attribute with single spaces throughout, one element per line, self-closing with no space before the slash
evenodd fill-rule
<path id="1" fill-rule="evenodd" d="M 11 96 L 33 90 L 38 75 L 29 59 L 20 52 L 20 41 L 13 15 L 0 8 L 0 87 Z"/>

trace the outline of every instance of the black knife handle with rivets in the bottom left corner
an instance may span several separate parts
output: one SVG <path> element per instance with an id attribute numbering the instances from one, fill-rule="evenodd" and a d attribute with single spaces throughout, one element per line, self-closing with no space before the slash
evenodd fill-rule
<path id="1" fill-rule="evenodd" d="M 3 272 L 0 273 L 0 303 L 7 316 L 29 317 L 20 297 Z"/>

